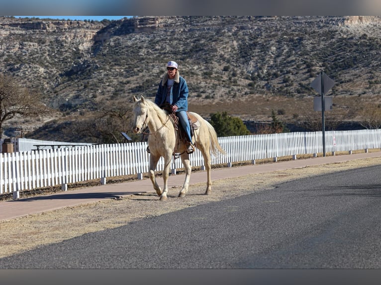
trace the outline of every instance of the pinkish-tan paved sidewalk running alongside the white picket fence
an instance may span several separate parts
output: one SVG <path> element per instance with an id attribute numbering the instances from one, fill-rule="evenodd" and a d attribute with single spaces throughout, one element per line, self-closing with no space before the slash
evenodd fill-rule
<path id="1" fill-rule="evenodd" d="M 300 168 L 334 162 L 343 162 L 354 159 L 380 157 L 381 151 L 364 152 L 357 154 L 334 155 L 326 157 L 315 157 L 308 159 L 287 160 L 274 163 L 247 165 L 240 167 L 225 167 L 214 169 L 211 172 L 212 180 L 228 177 L 238 177 L 247 174 L 264 173 L 291 168 Z M 168 181 L 168 188 L 182 186 L 185 174 L 171 175 Z M 159 179 L 161 180 L 161 178 Z M 206 172 L 198 171 L 191 174 L 191 183 L 206 183 Z M 159 185 L 162 186 L 159 181 Z M 133 193 L 151 192 L 153 187 L 149 179 L 137 180 L 109 185 L 99 185 L 94 187 L 70 190 L 54 195 L 38 196 L 32 198 L 19 199 L 15 201 L 0 202 L 0 220 L 12 219 L 28 214 L 37 214 L 45 211 L 52 211 L 64 207 L 87 204 L 100 201 L 102 199 L 117 198 Z"/>

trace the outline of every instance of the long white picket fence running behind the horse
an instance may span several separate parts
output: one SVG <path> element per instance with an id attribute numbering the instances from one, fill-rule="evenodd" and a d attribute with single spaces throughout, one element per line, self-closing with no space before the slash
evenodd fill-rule
<path id="1" fill-rule="evenodd" d="M 17 148 L 25 146 L 25 139 L 18 139 Z M 212 156 L 212 164 L 227 164 L 252 161 L 256 159 L 317 154 L 323 152 L 322 132 L 283 133 L 270 135 L 250 135 L 218 138 L 226 155 Z M 325 132 L 326 152 L 351 151 L 359 149 L 381 149 L 381 130 L 334 131 Z M 100 145 L 79 145 L 78 143 L 44 142 L 41 144 L 59 145 L 40 150 L 15 151 L 0 155 L 0 194 L 13 193 L 37 188 L 61 185 L 67 190 L 68 183 L 100 179 L 106 183 L 107 177 L 137 175 L 148 172 L 149 154 L 147 143 L 121 143 Z M 30 144 L 32 145 L 32 144 Z M 191 155 L 193 167 L 204 166 L 201 152 L 195 150 Z M 160 159 L 157 170 L 164 168 Z M 183 168 L 181 159 L 172 162 L 172 173 Z"/>

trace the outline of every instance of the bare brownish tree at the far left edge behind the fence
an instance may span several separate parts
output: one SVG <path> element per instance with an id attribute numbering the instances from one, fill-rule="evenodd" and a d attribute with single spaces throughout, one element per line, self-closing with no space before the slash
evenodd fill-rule
<path id="1" fill-rule="evenodd" d="M 5 121 L 16 116 L 37 117 L 47 112 L 37 92 L 21 87 L 14 77 L 0 73 L 0 138 Z"/>

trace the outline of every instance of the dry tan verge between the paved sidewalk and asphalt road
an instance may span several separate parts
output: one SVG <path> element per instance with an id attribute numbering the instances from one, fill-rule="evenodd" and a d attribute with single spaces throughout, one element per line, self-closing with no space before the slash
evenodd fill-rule
<path id="1" fill-rule="evenodd" d="M 190 185 L 185 198 L 177 197 L 180 188 L 170 189 L 168 200 L 164 202 L 159 201 L 156 193 L 152 191 L 124 196 L 119 200 L 105 200 L 0 221 L 0 258 L 85 233 L 119 227 L 139 219 L 266 191 L 285 181 L 380 163 L 381 157 L 376 157 L 245 175 L 213 181 L 210 195 L 203 195 L 205 183 L 199 183 Z"/>

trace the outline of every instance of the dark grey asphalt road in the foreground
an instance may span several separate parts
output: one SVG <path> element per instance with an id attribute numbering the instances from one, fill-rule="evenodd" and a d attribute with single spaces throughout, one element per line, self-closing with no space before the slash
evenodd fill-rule
<path id="1" fill-rule="evenodd" d="M 0 268 L 381 268 L 380 173 L 286 182 L 5 257 Z"/>

